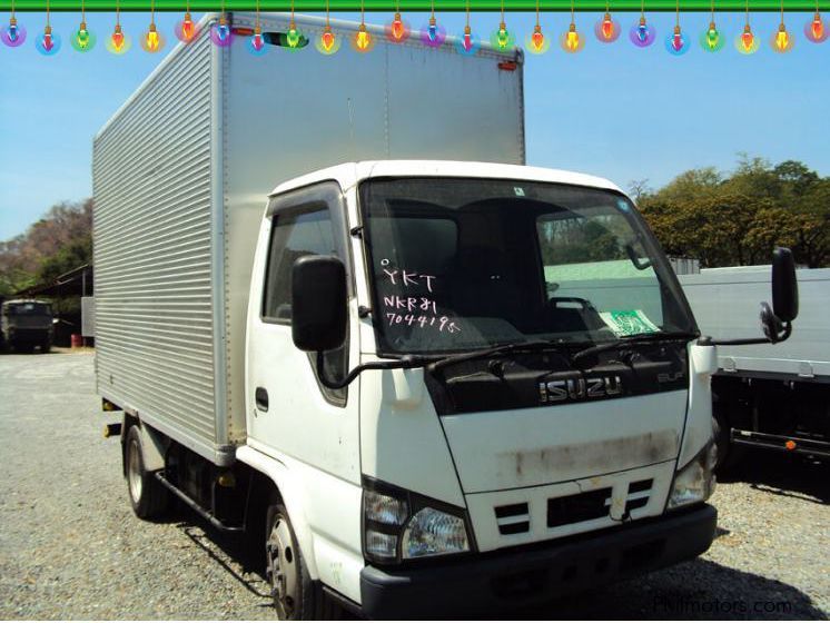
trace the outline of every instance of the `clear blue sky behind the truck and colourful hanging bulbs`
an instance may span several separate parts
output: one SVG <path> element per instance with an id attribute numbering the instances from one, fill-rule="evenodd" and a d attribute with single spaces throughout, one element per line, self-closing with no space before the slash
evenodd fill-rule
<path id="1" fill-rule="evenodd" d="M 134 36 L 125 56 L 109 53 L 105 38 L 112 13 L 88 13 L 88 28 L 99 40 L 87 53 L 69 44 L 80 17 L 53 13 L 53 31 L 63 39 L 55 57 L 33 46 L 46 23 L 43 13 L 18 13 L 28 30 L 20 48 L 0 46 L 0 240 L 23 233 L 52 205 L 91 196 L 92 137 L 141 83 L 164 53 L 150 55 L 138 46 L 149 22 L 144 13 L 122 13 L 125 32 Z M 196 19 L 198 16 L 194 13 Z M 356 19 L 349 13 L 336 18 Z M 413 27 L 425 13 L 405 16 Z M 673 13 L 652 13 L 659 39 L 646 49 L 628 40 L 639 18 L 616 13 L 625 32 L 614 43 L 593 36 L 596 13 L 576 13 L 586 37 L 584 50 L 566 55 L 552 44 L 547 53 L 526 56 L 525 113 L 527 164 L 576 170 L 605 177 L 623 188 L 632 180 L 649 180 L 659 188 L 678 174 L 696 167 L 734 167 L 738 155 L 772 162 L 801 160 L 822 176 L 830 175 L 830 41 L 814 44 L 803 34 L 811 13 L 788 13 L 796 47 L 777 55 L 769 40 L 779 16 L 751 16 L 761 49 L 739 55 L 733 39 L 743 28 L 742 13 L 717 16 L 728 43 L 718 53 L 696 42 L 707 29 L 708 13 L 681 14 L 684 32 L 694 37 L 683 57 L 665 51 L 663 38 L 674 24 Z M 367 22 L 389 16 L 367 13 Z M 543 13 L 547 36 L 561 34 L 569 16 Z M 6 16 L 2 17 L 4 21 Z M 174 23 L 180 14 L 159 13 L 156 22 L 172 49 Z M 508 13 L 507 27 L 518 41 L 532 31 L 532 13 Z M 463 30 L 463 13 L 438 13 L 447 32 Z M 484 36 L 497 27 L 497 13 L 474 13 L 473 30 Z M 308 53 L 317 53 L 308 48 Z M 354 53 L 346 46 L 338 53 Z"/>

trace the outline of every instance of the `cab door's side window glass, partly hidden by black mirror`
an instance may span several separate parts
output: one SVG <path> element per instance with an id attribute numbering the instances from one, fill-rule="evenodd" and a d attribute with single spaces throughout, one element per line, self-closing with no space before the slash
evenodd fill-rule
<path id="1" fill-rule="evenodd" d="M 337 255 L 328 208 L 277 215 L 271 227 L 263 318 L 292 322 L 292 268 L 306 255 Z"/>

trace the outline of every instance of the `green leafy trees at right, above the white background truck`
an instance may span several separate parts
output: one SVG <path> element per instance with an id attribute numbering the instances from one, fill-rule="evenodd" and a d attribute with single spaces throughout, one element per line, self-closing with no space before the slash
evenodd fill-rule
<path id="1" fill-rule="evenodd" d="M 810 268 L 830 265 L 830 178 L 802 162 L 741 155 L 732 175 L 686 171 L 639 205 L 669 255 L 705 267 L 768 264 L 775 246 Z"/>

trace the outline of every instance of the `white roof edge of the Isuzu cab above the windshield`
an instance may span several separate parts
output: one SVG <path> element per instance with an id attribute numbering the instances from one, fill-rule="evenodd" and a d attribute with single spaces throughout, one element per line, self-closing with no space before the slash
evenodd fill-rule
<path id="1" fill-rule="evenodd" d="M 606 190 L 622 190 L 607 179 L 585 174 L 527 167 L 521 165 L 500 165 L 495 162 L 471 162 L 456 160 L 365 160 L 345 162 L 335 167 L 319 169 L 285 181 L 277 186 L 271 196 L 310 186 L 319 181 L 335 180 L 340 188 L 348 189 L 359 181 L 373 177 L 468 177 L 491 179 L 522 179 L 528 181 L 547 181 L 571 184 Z"/>

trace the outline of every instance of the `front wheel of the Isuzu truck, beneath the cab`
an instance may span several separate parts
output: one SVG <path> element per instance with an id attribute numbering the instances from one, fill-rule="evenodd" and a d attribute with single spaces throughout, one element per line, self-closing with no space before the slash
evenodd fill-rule
<path id="1" fill-rule="evenodd" d="M 266 574 L 279 620 L 339 619 L 339 607 L 308 574 L 288 512 L 276 497 L 268 506 L 265 525 Z"/>

